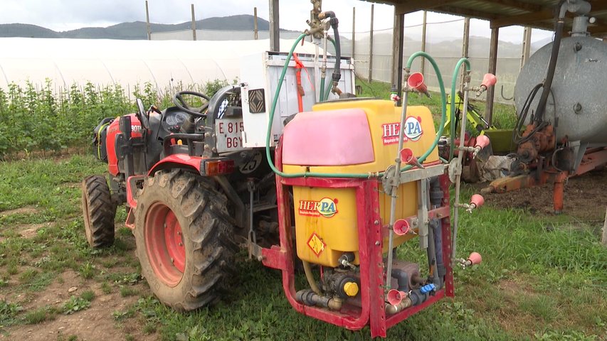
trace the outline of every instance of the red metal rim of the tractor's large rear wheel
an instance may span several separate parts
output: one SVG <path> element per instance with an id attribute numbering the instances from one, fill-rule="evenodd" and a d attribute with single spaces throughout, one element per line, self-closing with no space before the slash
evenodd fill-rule
<path id="1" fill-rule="evenodd" d="M 154 202 L 149 207 L 144 236 L 154 274 L 167 286 L 176 286 L 184 276 L 186 249 L 181 225 L 167 205 Z"/>

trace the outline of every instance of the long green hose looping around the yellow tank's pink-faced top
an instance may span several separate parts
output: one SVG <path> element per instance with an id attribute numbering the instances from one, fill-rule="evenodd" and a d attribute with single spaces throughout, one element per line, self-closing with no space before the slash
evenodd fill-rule
<path id="1" fill-rule="evenodd" d="M 306 177 L 312 177 L 312 178 L 362 178 L 362 179 L 366 179 L 366 178 L 371 178 L 373 175 L 376 176 L 382 176 L 384 175 L 384 172 L 381 173 L 315 173 L 315 172 L 304 172 L 304 173 L 284 173 L 278 170 L 278 168 L 276 168 L 276 166 L 274 165 L 273 161 L 272 161 L 272 154 L 270 153 L 270 137 L 272 136 L 272 124 L 274 121 L 274 114 L 276 111 L 276 104 L 278 104 L 278 95 L 280 94 L 280 88 L 283 86 L 283 81 L 285 80 L 285 75 L 287 74 L 287 69 L 289 67 L 289 63 L 291 61 L 292 55 L 293 55 L 293 51 L 295 51 L 295 48 L 297 48 L 297 44 L 300 43 L 300 41 L 305 38 L 306 34 L 302 33 L 299 37 L 297 37 L 297 39 L 295 40 L 295 43 L 293 43 L 291 50 L 289 51 L 289 54 L 287 55 L 287 60 L 285 60 L 285 65 L 283 66 L 283 72 L 280 73 L 280 78 L 278 79 L 278 85 L 276 87 L 276 92 L 274 93 L 274 99 L 272 100 L 272 107 L 270 107 L 270 117 L 268 120 L 268 134 L 266 134 L 265 136 L 265 156 L 266 158 L 268 158 L 268 164 L 270 166 L 270 168 L 272 169 L 272 171 L 280 176 L 282 176 L 283 178 L 306 178 Z M 438 85 L 440 87 L 440 96 L 441 96 L 441 100 L 442 100 L 442 113 L 443 113 L 443 117 L 440 121 L 440 127 L 438 129 L 438 132 L 436 134 L 436 139 L 434 140 L 432 146 L 430 148 L 428 148 L 428 151 L 426 151 L 426 153 L 423 153 L 423 155 L 419 158 L 420 162 L 423 162 L 428 155 L 430 155 L 430 153 L 434 150 L 434 148 L 436 148 L 436 146 L 438 145 L 438 139 L 440 139 L 440 135 L 443 134 L 443 128 L 445 126 L 445 119 L 447 117 L 447 95 L 445 94 L 445 86 L 443 85 L 443 77 L 440 75 L 440 70 L 438 70 L 438 65 L 436 65 L 436 62 L 433 60 L 433 58 L 428 55 L 427 53 L 424 52 L 418 52 L 418 53 L 414 53 L 413 55 L 411 55 L 411 57 L 409 58 L 408 62 L 407 62 L 407 67 L 411 68 L 411 64 L 413 63 L 413 60 L 415 58 L 417 58 L 418 56 L 423 56 L 424 58 L 428 59 L 430 61 L 430 63 L 432 64 L 432 66 L 434 67 L 434 70 L 436 72 L 436 75 L 438 76 Z M 401 171 L 407 171 L 408 169 L 410 169 L 411 166 L 405 166 L 401 169 Z"/>

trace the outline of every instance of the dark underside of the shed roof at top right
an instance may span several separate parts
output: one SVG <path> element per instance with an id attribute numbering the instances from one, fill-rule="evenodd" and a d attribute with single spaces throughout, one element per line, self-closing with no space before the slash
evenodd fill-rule
<path id="1" fill-rule="evenodd" d="M 531 26 L 552 30 L 554 9 L 559 0 L 366 0 L 380 4 L 394 5 L 396 14 L 414 11 L 468 16 L 490 21 L 491 28 L 511 25 Z M 588 0 L 592 6 L 589 16 L 596 22 L 588 26 L 593 36 L 607 36 L 607 1 Z M 571 27 L 572 16 L 566 27 Z"/>

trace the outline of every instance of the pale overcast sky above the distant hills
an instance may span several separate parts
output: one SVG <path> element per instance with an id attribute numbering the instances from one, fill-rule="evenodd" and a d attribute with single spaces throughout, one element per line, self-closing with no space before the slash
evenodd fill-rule
<path id="1" fill-rule="evenodd" d="M 68 31 L 87 26 L 111 26 L 124 21 L 145 21 L 144 0 L 0 0 L 0 23 L 31 23 L 55 31 Z M 268 0 L 149 0 L 150 21 L 154 23 L 182 23 L 191 19 L 190 4 L 196 9 L 196 19 L 213 16 L 253 14 L 257 7 L 258 16 L 268 18 Z M 369 31 L 371 4 L 359 0 L 324 0 L 322 9 L 332 10 L 339 18 L 342 33 L 352 31 L 352 7 L 357 8 L 356 31 Z M 309 0 L 281 0 L 280 27 L 295 31 L 307 28 L 312 5 Z M 394 8 L 376 4 L 374 30 L 392 27 Z M 428 23 L 453 21 L 440 26 L 440 31 L 432 31 L 428 26 L 428 39 L 460 38 L 463 21 L 460 17 L 439 13 L 428 13 Z M 406 35 L 418 36 L 422 22 L 421 12 L 405 16 Z M 413 26 L 413 27 L 411 27 Z M 487 21 L 473 20 L 471 35 L 490 36 Z M 547 31 L 534 30 L 532 40 L 542 40 L 551 36 Z M 419 39 L 419 38 L 416 38 Z M 519 43 L 522 28 L 500 29 L 500 40 Z"/>

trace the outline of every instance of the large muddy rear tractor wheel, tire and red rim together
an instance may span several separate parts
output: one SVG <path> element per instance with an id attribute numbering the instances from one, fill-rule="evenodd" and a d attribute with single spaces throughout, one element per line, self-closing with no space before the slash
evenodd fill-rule
<path id="1" fill-rule="evenodd" d="M 238 250 L 226 204 L 208 179 L 186 171 L 146 180 L 134 236 L 142 276 L 159 301 L 180 311 L 218 302 Z"/>

